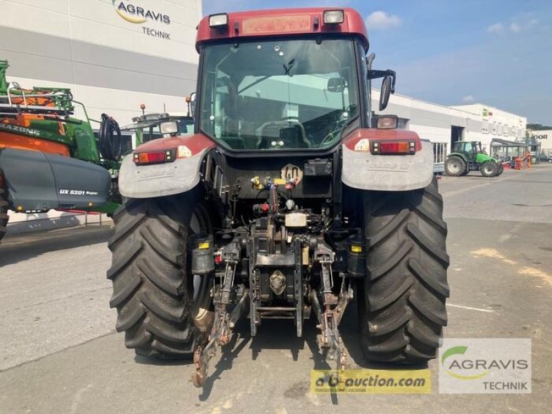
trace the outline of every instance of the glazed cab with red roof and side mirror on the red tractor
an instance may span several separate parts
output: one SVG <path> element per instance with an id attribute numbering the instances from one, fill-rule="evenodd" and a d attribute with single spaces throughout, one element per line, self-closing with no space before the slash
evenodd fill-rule
<path id="1" fill-rule="evenodd" d="M 395 72 L 365 58 L 357 14 L 279 14 L 216 14 L 199 25 L 196 132 L 229 152 L 328 150 L 343 132 L 371 127 L 371 79 L 386 78 L 383 103 L 393 92 Z"/>

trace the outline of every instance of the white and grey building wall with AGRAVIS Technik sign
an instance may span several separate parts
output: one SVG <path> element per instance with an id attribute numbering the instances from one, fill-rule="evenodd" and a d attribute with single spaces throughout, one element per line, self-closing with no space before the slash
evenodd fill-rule
<path id="1" fill-rule="evenodd" d="M 69 87 L 91 118 L 130 124 L 141 103 L 186 110 L 201 15 L 201 0 L 0 0 L 0 59 L 23 88 Z"/>

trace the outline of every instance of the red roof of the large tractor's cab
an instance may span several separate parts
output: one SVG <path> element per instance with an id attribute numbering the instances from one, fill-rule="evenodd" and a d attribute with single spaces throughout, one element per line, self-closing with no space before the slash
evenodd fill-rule
<path id="1" fill-rule="evenodd" d="M 343 23 L 324 23 L 324 12 L 343 10 Z M 217 13 L 219 14 L 219 13 Z M 211 14 L 215 16 L 217 14 Z M 224 14 L 224 13 L 220 13 Z M 286 8 L 232 12 L 228 14 L 228 25 L 211 28 L 210 16 L 197 26 L 195 47 L 199 52 L 201 43 L 222 39 L 246 39 L 252 37 L 295 36 L 298 34 L 353 34 L 368 51 L 368 32 L 364 19 L 352 8 Z"/>

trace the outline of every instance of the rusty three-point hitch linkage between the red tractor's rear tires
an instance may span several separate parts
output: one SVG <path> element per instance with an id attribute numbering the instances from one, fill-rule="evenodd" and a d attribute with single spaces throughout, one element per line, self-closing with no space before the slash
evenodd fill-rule
<path id="1" fill-rule="evenodd" d="M 272 201 L 278 197 L 276 189 L 277 186 L 271 188 Z M 206 344 L 199 345 L 194 354 L 192 382 L 195 386 L 205 385 L 210 359 L 216 355 L 217 348 L 230 342 L 235 324 L 246 315 L 250 317 L 251 336 L 257 334 L 262 319 L 293 319 L 297 337 L 302 337 L 303 321 L 308 319 L 312 309 L 320 331 L 317 335 L 320 350 L 326 352 L 326 360 L 335 362 L 338 370 L 346 366 L 346 350 L 338 327 L 348 302 L 353 298 L 351 277 L 340 273 L 341 287 L 335 295 L 332 273 L 335 252 L 324 242 L 324 237 L 292 235 L 286 233 L 285 226 L 277 226 L 282 219 L 286 224 L 286 217 L 278 213 L 277 205 L 277 202 L 270 202 L 260 206 L 258 210 L 267 214 L 250 226 L 250 236 L 235 237 L 215 255 L 215 262 L 224 266 L 224 272 L 219 273 L 221 283 L 213 287 L 215 323 Z M 300 228 L 302 219 L 306 224 L 306 213 L 292 214 L 302 217 L 287 219 L 288 228 Z M 299 222 L 293 222 L 293 219 Z M 277 227 L 280 227 L 279 232 L 275 231 Z M 279 237 L 278 253 L 268 247 L 278 238 L 275 235 Z M 285 236 L 283 239 L 282 235 Z M 282 246 L 285 244 L 289 246 Z M 248 262 L 248 266 L 244 266 L 244 262 Z M 239 264 L 242 264 L 242 273 L 244 267 L 248 270 L 248 288 L 244 284 L 235 285 Z M 310 277 L 316 273 L 320 277 L 319 283 L 312 284 Z M 319 285 L 320 291 L 312 285 Z M 295 306 L 289 306 L 290 302 Z"/>

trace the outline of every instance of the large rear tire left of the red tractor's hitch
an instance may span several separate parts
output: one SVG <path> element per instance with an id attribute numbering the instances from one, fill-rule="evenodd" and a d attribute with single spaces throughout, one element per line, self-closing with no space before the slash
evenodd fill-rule
<path id="1" fill-rule="evenodd" d="M 188 271 L 188 237 L 212 233 L 206 208 L 186 197 L 129 199 L 113 215 L 110 306 L 138 355 L 188 358 L 213 325 L 210 279 Z"/>

